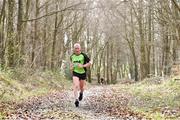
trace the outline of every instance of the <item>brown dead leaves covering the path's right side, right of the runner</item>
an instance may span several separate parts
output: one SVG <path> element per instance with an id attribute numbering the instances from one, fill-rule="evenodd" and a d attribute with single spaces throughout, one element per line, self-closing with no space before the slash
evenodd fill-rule
<path id="1" fill-rule="evenodd" d="M 143 119 L 144 115 L 140 113 L 135 113 L 128 108 L 128 95 L 119 94 L 114 90 L 110 91 L 104 92 L 103 90 L 102 94 L 90 96 L 88 98 L 88 109 L 93 109 L 97 113 L 108 114 L 109 116 L 114 116 L 118 119 Z"/>

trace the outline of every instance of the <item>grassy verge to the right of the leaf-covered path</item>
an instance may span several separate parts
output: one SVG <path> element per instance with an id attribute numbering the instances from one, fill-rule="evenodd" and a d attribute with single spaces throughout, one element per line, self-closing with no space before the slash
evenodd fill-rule
<path id="1" fill-rule="evenodd" d="M 179 119 L 176 117 L 180 116 L 180 81 L 169 78 L 154 82 L 154 79 L 134 84 L 118 84 L 116 87 L 119 91 L 132 95 L 129 107 L 134 111 L 143 112 L 156 120 L 168 119 L 169 116 L 170 119 Z M 177 109 L 177 113 L 173 115 L 174 109 Z"/>

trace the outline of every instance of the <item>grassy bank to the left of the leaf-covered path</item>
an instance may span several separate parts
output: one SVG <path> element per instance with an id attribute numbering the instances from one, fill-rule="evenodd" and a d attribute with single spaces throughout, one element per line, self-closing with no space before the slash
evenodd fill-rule
<path id="1" fill-rule="evenodd" d="M 0 71 L 0 101 L 20 101 L 30 96 L 41 96 L 53 91 L 68 89 L 71 81 L 60 71 L 34 71 L 11 69 Z"/>

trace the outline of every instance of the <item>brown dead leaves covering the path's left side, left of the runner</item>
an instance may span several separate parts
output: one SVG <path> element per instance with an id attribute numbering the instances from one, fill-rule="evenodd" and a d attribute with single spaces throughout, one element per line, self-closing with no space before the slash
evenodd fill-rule
<path id="1" fill-rule="evenodd" d="M 19 104 L 15 104 L 13 112 L 8 113 L 6 119 L 51 119 L 53 116 L 48 116 L 48 113 L 63 109 L 67 97 L 66 92 L 31 97 Z"/>

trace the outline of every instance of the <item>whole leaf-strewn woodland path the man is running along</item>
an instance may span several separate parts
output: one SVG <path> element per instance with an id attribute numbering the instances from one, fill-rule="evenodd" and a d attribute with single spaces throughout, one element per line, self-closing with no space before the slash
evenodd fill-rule
<path id="1" fill-rule="evenodd" d="M 129 95 L 118 93 L 111 87 L 93 87 L 86 90 L 80 107 L 74 106 L 72 91 L 31 97 L 12 106 L 6 119 L 58 119 L 58 120 L 141 120 L 144 115 L 128 108 Z M 112 116 L 112 117 L 111 117 Z"/>

